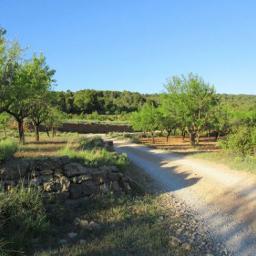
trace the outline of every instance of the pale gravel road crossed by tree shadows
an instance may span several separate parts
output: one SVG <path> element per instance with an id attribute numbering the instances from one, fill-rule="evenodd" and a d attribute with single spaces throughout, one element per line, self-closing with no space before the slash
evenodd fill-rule
<path id="1" fill-rule="evenodd" d="M 109 140 L 109 138 L 108 138 Z M 256 255 L 256 176 L 166 150 L 114 139 L 115 150 L 189 205 L 232 255 Z"/>

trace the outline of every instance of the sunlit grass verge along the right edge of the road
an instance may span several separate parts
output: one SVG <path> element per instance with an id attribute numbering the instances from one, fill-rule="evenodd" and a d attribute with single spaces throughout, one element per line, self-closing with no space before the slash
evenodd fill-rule
<path id="1" fill-rule="evenodd" d="M 256 157 L 244 158 L 235 156 L 226 152 L 207 152 L 191 155 L 197 159 L 213 161 L 215 163 L 225 164 L 234 170 L 244 170 L 250 173 L 256 173 Z"/>

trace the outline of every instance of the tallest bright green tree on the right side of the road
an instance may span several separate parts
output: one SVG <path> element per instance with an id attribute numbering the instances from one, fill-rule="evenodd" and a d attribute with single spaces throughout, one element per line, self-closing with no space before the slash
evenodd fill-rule
<path id="1" fill-rule="evenodd" d="M 196 134 L 209 122 L 212 108 L 218 102 L 214 87 L 205 83 L 202 77 L 190 73 L 187 77 L 167 79 L 166 89 L 184 120 L 190 145 L 195 147 Z"/>

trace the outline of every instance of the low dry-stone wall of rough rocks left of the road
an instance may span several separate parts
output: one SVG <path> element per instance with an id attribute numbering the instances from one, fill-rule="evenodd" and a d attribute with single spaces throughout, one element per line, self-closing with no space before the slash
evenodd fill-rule
<path id="1" fill-rule="evenodd" d="M 130 193 L 140 187 L 115 166 L 87 168 L 67 156 L 1 163 L 0 188 L 10 189 L 18 184 L 38 186 L 45 193 L 58 193 L 71 199 L 109 191 Z"/>

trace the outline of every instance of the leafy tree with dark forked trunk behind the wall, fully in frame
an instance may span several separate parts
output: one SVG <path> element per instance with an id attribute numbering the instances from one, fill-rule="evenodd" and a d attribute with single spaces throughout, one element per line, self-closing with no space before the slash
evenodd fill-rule
<path id="1" fill-rule="evenodd" d="M 33 54 L 33 58 L 19 64 L 19 69 L 13 77 L 12 104 L 7 112 L 12 115 L 19 125 L 20 143 L 25 142 L 24 118 L 35 115 L 40 111 L 42 99 L 51 88 L 51 76 L 54 70 L 50 70 L 45 63 L 45 57 L 40 54 L 39 58 Z M 41 99 L 40 99 L 41 98 Z M 38 104 L 36 100 L 41 102 Z M 35 116 L 33 116 L 36 120 Z"/>

